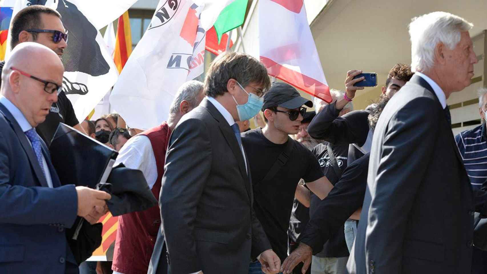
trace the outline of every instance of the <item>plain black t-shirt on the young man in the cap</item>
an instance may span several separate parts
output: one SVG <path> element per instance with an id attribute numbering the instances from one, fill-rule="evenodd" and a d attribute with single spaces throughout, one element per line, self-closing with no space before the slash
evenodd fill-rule
<path id="1" fill-rule="evenodd" d="M 323 177 L 313 153 L 299 142 L 291 142 L 294 145 L 287 163 L 272 180 L 262 182 L 287 142 L 270 142 L 262 134 L 262 128 L 242 133 L 242 144 L 252 176 L 255 214 L 281 261 L 287 257 L 287 230 L 296 187 L 301 178 L 309 183 Z"/>

